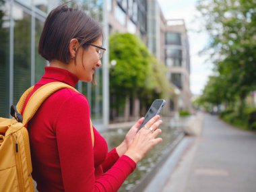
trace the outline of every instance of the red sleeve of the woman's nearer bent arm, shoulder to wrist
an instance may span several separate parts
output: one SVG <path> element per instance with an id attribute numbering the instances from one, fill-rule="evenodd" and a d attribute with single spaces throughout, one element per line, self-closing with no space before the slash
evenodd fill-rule
<path id="1" fill-rule="evenodd" d="M 82 94 L 73 94 L 60 106 L 55 129 L 65 191 L 114 192 L 135 169 L 135 162 L 122 156 L 95 179 L 90 108 Z"/>

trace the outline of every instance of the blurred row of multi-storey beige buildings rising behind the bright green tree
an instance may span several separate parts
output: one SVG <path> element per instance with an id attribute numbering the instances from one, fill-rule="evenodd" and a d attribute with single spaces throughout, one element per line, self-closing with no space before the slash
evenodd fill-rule
<path id="1" fill-rule="evenodd" d="M 137 34 L 152 54 L 168 67 L 174 96 L 170 110 L 191 110 L 189 38 L 184 20 L 166 20 L 157 0 L 108 0 L 109 33 Z"/>

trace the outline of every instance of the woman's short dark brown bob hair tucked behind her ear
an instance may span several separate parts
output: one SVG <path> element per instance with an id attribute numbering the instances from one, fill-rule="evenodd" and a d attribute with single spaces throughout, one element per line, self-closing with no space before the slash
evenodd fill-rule
<path id="1" fill-rule="evenodd" d="M 69 63 L 69 42 L 77 38 L 84 49 L 88 44 L 103 38 L 99 22 L 82 9 L 59 5 L 49 13 L 40 36 L 38 53 L 48 61 Z"/>

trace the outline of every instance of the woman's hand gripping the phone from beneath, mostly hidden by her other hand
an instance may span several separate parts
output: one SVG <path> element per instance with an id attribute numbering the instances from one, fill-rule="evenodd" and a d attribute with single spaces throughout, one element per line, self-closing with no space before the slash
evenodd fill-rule
<path id="1" fill-rule="evenodd" d="M 119 154 L 119 157 L 122 156 L 123 154 L 125 154 L 125 152 L 129 148 L 129 146 L 133 142 L 133 139 L 134 139 L 137 131 L 139 130 L 139 126 L 141 125 L 143 120 L 144 120 L 144 117 L 141 117 L 141 119 L 139 119 L 135 123 L 135 125 L 133 125 L 133 127 L 131 127 L 131 129 L 125 135 L 125 140 L 116 148 L 117 154 Z"/>

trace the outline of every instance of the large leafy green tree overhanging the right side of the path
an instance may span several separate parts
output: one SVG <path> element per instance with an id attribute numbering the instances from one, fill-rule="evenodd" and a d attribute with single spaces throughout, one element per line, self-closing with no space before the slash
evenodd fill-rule
<path id="1" fill-rule="evenodd" d="M 222 101 L 238 96 L 240 113 L 246 96 L 256 88 L 255 7 L 253 0 L 201 0 L 197 4 L 211 37 L 205 51 L 211 52 L 216 65 L 216 82 L 226 85 Z"/>

